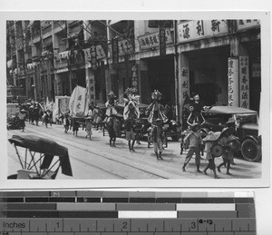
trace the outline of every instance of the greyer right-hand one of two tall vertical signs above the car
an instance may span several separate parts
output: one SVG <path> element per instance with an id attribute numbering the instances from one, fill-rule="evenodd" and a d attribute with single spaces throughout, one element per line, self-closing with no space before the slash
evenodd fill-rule
<path id="1" fill-rule="evenodd" d="M 240 106 L 249 109 L 249 61 L 248 56 L 239 56 Z"/>

